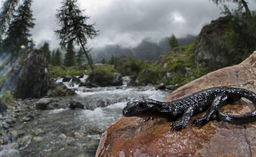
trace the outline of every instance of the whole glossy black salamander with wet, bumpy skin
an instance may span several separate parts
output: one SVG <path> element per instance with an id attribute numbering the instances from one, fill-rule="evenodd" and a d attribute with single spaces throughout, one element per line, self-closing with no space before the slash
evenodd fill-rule
<path id="1" fill-rule="evenodd" d="M 230 101 L 237 101 L 241 97 L 249 99 L 254 104 L 253 112 L 244 115 L 229 115 L 220 112 L 222 106 Z M 256 94 L 243 88 L 214 87 L 171 102 L 160 102 L 153 99 L 130 101 L 123 108 L 123 115 L 125 117 L 166 117 L 173 121 L 170 124 L 171 131 L 173 131 L 185 128 L 192 116 L 208 108 L 208 113 L 193 121 L 194 124 L 200 127 L 212 119 L 220 119 L 236 125 L 250 123 L 256 121 Z M 177 120 L 179 117 L 181 120 Z"/>

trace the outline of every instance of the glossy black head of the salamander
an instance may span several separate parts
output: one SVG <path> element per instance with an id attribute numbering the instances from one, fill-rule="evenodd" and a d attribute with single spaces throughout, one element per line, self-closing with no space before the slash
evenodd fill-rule
<path id="1" fill-rule="evenodd" d="M 127 106 L 123 108 L 123 115 L 125 117 L 145 117 L 153 115 L 156 111 L 157 105 L 151 102 L 151 99 L 144 99 L 128 102 Z"/>

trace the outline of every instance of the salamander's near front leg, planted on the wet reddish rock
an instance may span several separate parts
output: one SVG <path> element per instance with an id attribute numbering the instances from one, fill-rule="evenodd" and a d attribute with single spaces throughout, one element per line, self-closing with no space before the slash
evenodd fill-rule
<path id="1" fill-rule="evenodd" d="M 191 119 L 191 117 L 196 113 L 196 110 L 190 106 L 188 109 L 186 109 L 186 112 L 183 114 L 181 121 L 174 121 L 170 124 L 171 131 L 179 130 L 181 128 L 185 128 L 186 125 L 188 125 L 188 121 Z"/>

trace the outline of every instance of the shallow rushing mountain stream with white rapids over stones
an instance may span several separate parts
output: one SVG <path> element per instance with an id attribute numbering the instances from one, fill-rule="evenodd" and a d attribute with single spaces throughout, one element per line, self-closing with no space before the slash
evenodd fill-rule
<path id="1" fill-rule="evenodd" d="M 162 101 L 170 93 L 153 86 L 85 88 L 72 82 L 65 84 L 77 95 L 56 99 L 73 99 L 89 110 L 31 110 L 34 119 L 14 127 L 23 136 L 2 147 L 0 156 L 7 152 L 14 152 L 15 156 L 95 156 L 101 134 L 123 117 L 122 109 L 128 101 L 142 98 Z"/>

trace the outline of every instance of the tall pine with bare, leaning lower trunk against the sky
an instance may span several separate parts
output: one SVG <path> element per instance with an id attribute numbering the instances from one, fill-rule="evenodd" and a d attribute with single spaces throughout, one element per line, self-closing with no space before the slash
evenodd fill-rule
<path id="1" fill-rule="evenodd" d="M 94 24 L 87 24 L 89 17 L 83 15 L 83 10 L 80 10 L 77 0 L 62 1 L 62 6 L 56 16 L 58 25 L 61 27 L 60 30 L 55 30 L 60 39 L 60 45 L 66 47 L 70 42 L 81 45 L 88 64 L 93 69 L 90 54 L 86 52 L 86 43 L 88 38 L 92 39 L 97 35 Z"/>

